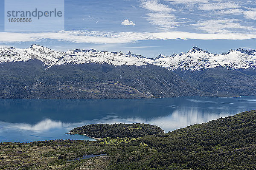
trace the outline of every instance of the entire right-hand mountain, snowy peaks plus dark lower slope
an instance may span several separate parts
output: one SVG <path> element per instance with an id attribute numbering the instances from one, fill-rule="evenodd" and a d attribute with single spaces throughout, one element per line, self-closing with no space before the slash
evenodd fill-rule
<path id="1" fill-rule="evenodd" d="M 210 96 L 256 95 L 255 50 L 212 54 L 194 47 L 179 55 L 159 55 L 151 63 L 175 72 Z"/>

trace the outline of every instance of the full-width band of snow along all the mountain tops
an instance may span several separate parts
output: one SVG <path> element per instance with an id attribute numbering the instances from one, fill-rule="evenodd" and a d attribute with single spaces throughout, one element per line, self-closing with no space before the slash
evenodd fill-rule
<path id="1" fill-rule="evenodd" d="M 227 69 L 256 69 L 256 51 L 230 50 L 225 54 L 212 54 L 198 47 L 193 47 L 187 53 L 164 56 L 160 54 L 154 59 L 148 59 L 142 55 L 127 54 L 122 52 L 108 52 L 90 50 L 70 50 L 59 52 L 40 45 L 31 45 L 30 48 L 0 48 L 0 63 L 28 61 L 38 59 L 44 62 L 46 68 L 52 65 L 62 64 L 84 64 L 84 63 L 107 63 L 110 65 L 148 65 L 153 64 L 175 71 L 200 71 L 207 68 Z"/>

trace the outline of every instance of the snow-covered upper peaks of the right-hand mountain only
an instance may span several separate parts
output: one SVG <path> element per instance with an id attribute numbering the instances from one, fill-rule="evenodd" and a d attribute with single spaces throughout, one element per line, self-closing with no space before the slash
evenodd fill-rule
<path id="1" fill-rule="evenodd" d="M 256 51 L 230 50 L 226 54 L 212 54 L 208 51 L 203 51 L 198 47 L 193 47 L 187 53 L 173 54 L 166 57 L 159 55 L 151 62 L 169 70 L 180 69 L 183 71 L 198 71 L 207 68 L 223 67 L 227 69 L 256 69 Z"/>

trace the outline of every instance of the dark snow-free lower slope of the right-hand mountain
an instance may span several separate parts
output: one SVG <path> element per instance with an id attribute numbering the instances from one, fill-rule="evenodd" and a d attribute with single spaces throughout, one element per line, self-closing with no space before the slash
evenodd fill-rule
<path id="1" fill-rule="evenodd" d="M 209 96 L 256 95 L 256 70 L 209 68 L 201 71 L 174 71 L 186 82 Z"/>

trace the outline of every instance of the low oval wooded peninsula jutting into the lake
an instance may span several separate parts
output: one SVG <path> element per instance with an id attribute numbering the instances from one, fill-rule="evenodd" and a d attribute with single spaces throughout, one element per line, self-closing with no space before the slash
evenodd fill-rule
<path id="1" fill-rule="evenodd" d="M 76 127 L 70 130 L 70 134 L 86 134 L 96 138 L 137 138 L 146 135 L 164 133 L 164 131 L 155 125 L 133 123 L 133 124 L 92 124 Z"/>

